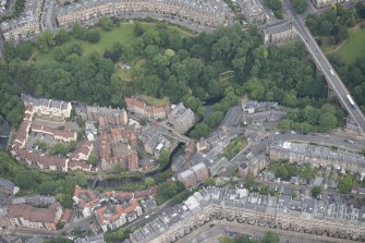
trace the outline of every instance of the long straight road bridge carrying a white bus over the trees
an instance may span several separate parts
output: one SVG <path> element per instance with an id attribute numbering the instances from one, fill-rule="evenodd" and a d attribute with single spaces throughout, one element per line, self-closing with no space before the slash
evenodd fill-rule
<path id="1" fill-rule="evenodd" d="M 358 125 L 358 130 L 362 134 L 365 133 L 365 117 L 362 113 L 362 111 L 358 109 L 357 105 L 355 104 L 355 108 L 353 108 L 348 98 L 346 95 L 349 95 L 348 88 L 343 85 L 340 76 L 336 73 L 332 65 L 327 60 L 326 56 L 321 52 L 319 46 L 317 45 L 316 40 L 313 38 L 309 31 L 306 28 L 303 20 L 300 17 L 300 15 L 296 14 L 296 12 L 291 7 L 289 0 L 284 0 L 285 9 L 288 10 L 289 14 L 291 15 L 293 20 L 293 24 L 299 33 L 299 36 L 303 40 L 305 47 L 307 48 L 308 52 L 313 57 L 314 61 L 316 62 L 317 66 L 324 73 L 328 85 L 334 90 L 337 96 L 339 97 L 341 104 L 344 106 L 344 108 L 348 110 L 348 112 L 351 114 L 351 117 L 356 121 Z M 330 70 L 332 70 L 333 75 L 331 74 Z"/>

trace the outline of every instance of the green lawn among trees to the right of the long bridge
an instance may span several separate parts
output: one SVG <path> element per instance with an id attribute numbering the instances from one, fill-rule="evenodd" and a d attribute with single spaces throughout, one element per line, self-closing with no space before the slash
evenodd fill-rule
<path id="1" fill-rule="evenodd" d="M 351 64 L 365 54 L 365 28 L 351 32 L 348 41 L 336 52 L 331 53 Z"/>

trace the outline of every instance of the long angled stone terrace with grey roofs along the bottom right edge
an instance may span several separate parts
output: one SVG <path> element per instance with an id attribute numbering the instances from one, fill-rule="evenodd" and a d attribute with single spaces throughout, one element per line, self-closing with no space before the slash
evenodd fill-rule
<path id="1" fill-rule="evenodd" d="M 311 197 L 265 196 L 246 189 L 208 187 L 131 234 L 133 243 L 175 242 L 210 220 L 236 221 L 333 238 L 365 239 L 365 208 Z"/>

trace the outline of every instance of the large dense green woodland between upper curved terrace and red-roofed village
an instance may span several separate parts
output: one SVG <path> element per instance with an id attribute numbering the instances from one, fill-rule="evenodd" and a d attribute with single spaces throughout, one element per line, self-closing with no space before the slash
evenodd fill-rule
<path id="1" fill-rule="evenodd" d="M 100 20 L 100 25 L 111 27 L 110 20 Z M 52 45 L 66 41 L 70 35 L 86 38 L 93 32 L 97 31 L 75 24 L 69 34 L 42 34 L 36 46 L 48 50 L 54 48 L 50 47 Z M 53 51 L 54 61 L 36 65 L 17 58 L 29 56 L 28 44 L 7 48 L 11 53 L 4 63 L 4 70 L 9 72 L 7 80 L 16 80 L 23 92 L 35 96 L 101 106 L 123 106 L 123 98 L 135 93 L 169 97 L 172 102 L 184 101 L 198 119 L 204 116 L 191 132 L 196 138 L 214 131 L 228 109 L 240 104 L 240 97 L 244 95 L 288 107 L 301 106 L 297 109 L 311 106 L 316 111 L 327 95 L 325 80 L 316 75 L 316 69 L 300 42 L 280 48 L 265 47 L 255 28 L 242 32 L 239 26 L 221 27 L 212 34 L 182 37 L 166 23 L 146 29 L 135 22 L 134 35 L 136 40 L 131 45 L 115 40 L 105 57 L 83 53 L 80 44 L 58 46 Z M 112 59 L 107 53 L 112 53 Z M 118 59 L 139 60 L 132 66 L 133 82 L 114 74 L 113 61 Z M 211 112 L 206 112 L 205 104 L 211 100 L 215 100 Z M 326 119 L 320 119 L 317 113 L 308 111 L 307 123 L 300 121 L 300 116 L 291 116 L 283 126 L 309 131 L 317 125 L 333 127 L 343 120 L 342 112 Z"/>

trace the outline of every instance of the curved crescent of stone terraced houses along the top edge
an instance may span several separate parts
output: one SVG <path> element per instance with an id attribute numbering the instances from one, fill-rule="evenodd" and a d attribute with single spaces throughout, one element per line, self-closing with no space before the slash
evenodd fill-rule
<path id="1" fill-rule="evenodd" d="M 160 14 L 183 19 L 199 25 L 217 27 L 226 22 L 227 10 L 222 1 L 196 0 L 99 0 L 81 1 L 60 8 L 57 21 L 60 26 L 71 26 L 105 15 L 138 13 Z"/>

